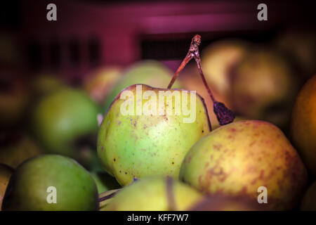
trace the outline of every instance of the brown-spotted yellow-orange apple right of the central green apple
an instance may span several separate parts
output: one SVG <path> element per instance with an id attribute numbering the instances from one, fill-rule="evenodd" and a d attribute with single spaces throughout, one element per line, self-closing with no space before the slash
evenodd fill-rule
<path id="1" fill-rule="evenodd" d="M 307 182 L 298 153 L 269 122 L 244 120 L 211 131 L 185 156 L 180 180 L 204 193 L 244 196 L 256 202 L 268 190 L 270 210 L 296 206 Z"/>

